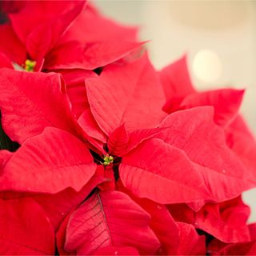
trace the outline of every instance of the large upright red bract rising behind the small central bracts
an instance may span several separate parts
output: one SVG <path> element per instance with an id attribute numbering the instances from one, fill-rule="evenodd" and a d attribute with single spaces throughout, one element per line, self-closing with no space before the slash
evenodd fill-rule
<path id="1" fill-rule="evenodd" d="M 160 88 L 146 55 L 126 65 L 106 66 L 99 78 L 86 80 L 90 109 L 108 135 L 122 123 L 128 131 L 157 126 L 165 116 Z"/>

